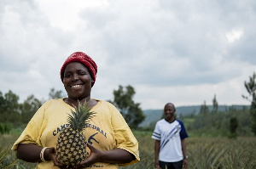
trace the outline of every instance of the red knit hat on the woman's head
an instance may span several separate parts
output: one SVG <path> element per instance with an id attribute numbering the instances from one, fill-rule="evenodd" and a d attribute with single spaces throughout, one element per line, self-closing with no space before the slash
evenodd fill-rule
<path id="1" fill-rule="evenodd" d="M 61 81 L 63 82 L 64 70 L 66 66 L 72 62 L 80 62 L 90 70 L 92 79 L 94 81 L 91 85 L 91 87 L 93 87 L 96 81 L 97 65 L 94 62 L 94 60 L 90 58 L 90 56 L 88 56 L 87 54 L 84 54 L 83 52 L 75 52 L 70 56 L 68 56 L 68 58 L 66 59 L 66 61 L 61 67 Z"/>

